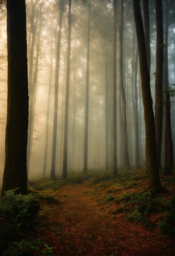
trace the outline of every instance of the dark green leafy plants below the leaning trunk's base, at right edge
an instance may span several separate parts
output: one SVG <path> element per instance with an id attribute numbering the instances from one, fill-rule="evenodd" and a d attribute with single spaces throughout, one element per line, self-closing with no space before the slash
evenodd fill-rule
<path id="1" fill-rule="evenodd" d="M 174 196 L 170 201 L 165 201 L 155 195 L 155 191 L 144 191 L 142 190 L 137 195 L 134 193 L 128 193 L 120 196 L 117 199 L 118 203 L 126 202 L 126 205 L 130 206 L 130 214 L 126 217 L 127 220 L 133 222 L 142 222 L 146 226 L 150 226 L 150 223 L 145 219 L 147 214 L 156 212 L 158 210 L 164 210 L 163 221 L 157 223 L 158 227 L 163 230 L 166 234 L 174 234 Z M 119 208 L 113 212 L 117 214 L 122 212 L 123 208 Z"/>

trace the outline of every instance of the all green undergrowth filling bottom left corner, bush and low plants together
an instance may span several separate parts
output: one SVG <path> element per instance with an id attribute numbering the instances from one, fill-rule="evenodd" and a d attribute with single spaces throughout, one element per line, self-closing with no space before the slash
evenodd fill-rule
<path id="1" fill-rule="evenodd" d="M 34 239 L 40 227 L 39 201 L 33 194 L 9 190 L 0 199 L 0 255 L 54 255 L 44 238 Z"/>

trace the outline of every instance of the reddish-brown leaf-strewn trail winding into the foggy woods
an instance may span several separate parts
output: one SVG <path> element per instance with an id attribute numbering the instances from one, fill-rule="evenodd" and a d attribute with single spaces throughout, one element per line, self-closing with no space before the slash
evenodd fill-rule
<path id="1" fill-rule="evenodd" d="M 103 212 L 86 193 L 89 184 L 60 188 L 61 203 L 43 209 L 45 229 L 40 235 L 56 255 L 173 255 L 169 248 L 162 250 L 167 240 L 160 229 L 125 221 L 123 213 Z"/>

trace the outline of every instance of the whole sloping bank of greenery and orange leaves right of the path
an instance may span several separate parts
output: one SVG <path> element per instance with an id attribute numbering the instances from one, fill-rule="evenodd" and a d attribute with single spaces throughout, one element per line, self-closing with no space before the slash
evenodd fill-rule
<path id="1" fill-rule="evenodd" d="M 83 194 L 91 195 L 101 209 L 110 214 L 125 214 L 125 219 L 141 222 L 145 226 L 159 227 L 168 235 L 174 234 L 174 175 L 162 176 L 160 180 L 168 194 L 148 190 L 147 169 L 120 170 L 117 176 L 112 171 L 100 172 L 92 180 L 90 190 Z M 106 208 L 105 208 L 106 207 Z M 151 221 L 151 214 L 160 215 L 157 223 Z"/>

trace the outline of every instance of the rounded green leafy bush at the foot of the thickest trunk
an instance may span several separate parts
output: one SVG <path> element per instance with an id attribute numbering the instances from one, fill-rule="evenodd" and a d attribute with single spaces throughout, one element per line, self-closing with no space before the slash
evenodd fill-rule
<path id="1" fill-rule="evenodd" d="M 8 239 L 18 237 L 23 231 L 38 227 L 39 203 L 33 195 L 15 195 L 17 189 L 4 192 L 0 200 L 0 248 Z"/>

